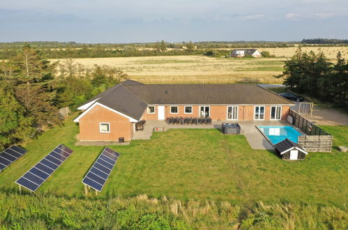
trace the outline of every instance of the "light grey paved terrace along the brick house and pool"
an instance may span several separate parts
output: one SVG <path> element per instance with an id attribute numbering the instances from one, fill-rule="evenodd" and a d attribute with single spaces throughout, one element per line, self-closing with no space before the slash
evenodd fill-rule
<path id="1" fill-rule="evenodd" d="M 146 121 L 144 130 L 134 133 L 133 139 L 150 139 L 153 128 L 165 128 L 169 130 L 171 128 L 215 128 L 221 129 L 222 123 L 233 123 L 234 121 L 213 121 L 211 124 L 168 124 L 165 121 Z M 273 146 L 266 140 L 255 125 L 290 125 L 287 121 L 237 121 L 241 126 L 241 134 L 245 135 L 251 148 L 253 149 L 268 149 L 273 150 Z M 294 127 L 294 125 L 291 125 Z M 296 128 L 296 127 L 294 127 Z M 296 128 L 298 130 L 298 128 Z M 298 130 L 301 132 L 301 130 Z M 301 132 L 303 133 L 303 132 Z"/>

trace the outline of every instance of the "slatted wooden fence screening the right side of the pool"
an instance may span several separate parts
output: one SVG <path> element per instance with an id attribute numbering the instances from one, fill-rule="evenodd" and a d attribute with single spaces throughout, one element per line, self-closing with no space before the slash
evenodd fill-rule
<path id="1" fill-rule="evenodd" d="M 314 123 L 290 109 L 290 115 L 294 117 L 293 125 L 307 135 L 298 137 L 298 144 L 308 152 L 331 152 L 333 136 L 322 130 Z"/>

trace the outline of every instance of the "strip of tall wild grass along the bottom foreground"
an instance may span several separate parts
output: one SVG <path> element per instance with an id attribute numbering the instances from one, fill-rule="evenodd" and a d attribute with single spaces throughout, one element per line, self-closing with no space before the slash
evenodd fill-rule
<path id="1" fill-rule="evenodd" d="M 0 192 L 0 229 L 345 229 L 347 206 Z"/>

